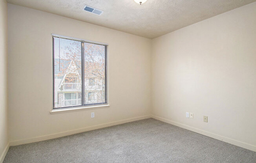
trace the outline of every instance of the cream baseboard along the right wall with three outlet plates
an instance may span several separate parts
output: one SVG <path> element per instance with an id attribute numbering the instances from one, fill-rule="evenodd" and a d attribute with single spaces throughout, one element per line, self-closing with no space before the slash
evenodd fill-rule
<path id="1" fill-rule="evenodd" d="M 187 129 L 187 130 L 190 130 L 190 131 L 193 131 L 193 132 L 197 132 L 199 134 L 208 136 L 210 138 L 218 139 L 220 141 L 224 141 L 226 143 L 230 143 L 232 145 L 236 145 L 238 147 L 242 147 L 242 148 L 249 149 L 249 150 L 252 150 L 252 151 L 256 152 L 256 146 L 255 145 L 251 145 L 251 144 L 244 143 L 244 142 L 241 142 L 241 141 L 238 141 L 238 140 L 230 139 L 230 138 L 227 138 L 225 136 L 221 136 L 221 135 L 214 134 L 214 133 L 211 133 L 211 132 L 208 132 L 208 131 L 205 131 L 205 130 L 197 129 L 195 127 L 191 127 L 191 126 L 188 126 L 188 125 L 184 125 L 182 123 L 167 120 L 165 118 L 161 118 L 161 117 L 158 117 L 158 116 L 152 115 L 151 117 L 156 119 L 156 120 L 163 121 L 163 122 L 166 122 L 166 123 L 170 123 L 172 125 L 181 127 L 183 129 Z"/>

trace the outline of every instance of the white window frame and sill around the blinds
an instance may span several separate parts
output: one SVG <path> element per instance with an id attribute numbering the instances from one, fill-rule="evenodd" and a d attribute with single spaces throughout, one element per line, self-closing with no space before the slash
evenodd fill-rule
<path id="1" fill-rule="evenodd" d="M 106 104 L 104 105 L 88 105 L 88 106 L 78 106 L 78 107 L 71 107 L 71 108 L 64 108 L 64 109 L 53 109 L 53 103 L 51 106 L 51 110 L 50 110 L 50 114 L 57 114 L 57 113 L 62 113 L 62 112 L 73 112 L 73 111 L 79 111 L 79 110 L 88 110 L 88 109 L 97 109 L 97 108 L 105 108 L 105 107 L 109 107 L 110 103 L 109 103 L 109 53 L 108 53 L 108 43 L 102 43 L 102 42 L 95 42 L 95 41 L 91 41 L 91 40 L 84 40 L 84 39 L 80 39 L 80 38 L 74 38 L 74 37 L 69 37 L 69 36 L 63 36 L 63 35 L 59 35 L 59 34 L 51 34 L 51 40 L 52 37 L 60 37 L 60 38 L 67 38 L 70 40 L 75 40 L 75 41 L 82 41 L 82 42 L 87 42 L 87 43 L 95 43 L 95 44 L 99 44 L 99 45 L 106 45 L 107 50 L 107 72 L 106 72 L 106 76 L 107 76 L 107 100 L 106 100 Z M 52 41 L 51 41 L 52 42 Z M 52 48 L 52 53 L 53 54 L 53 48 Z M 53 56 L 54 57 L 54 56 Z M 52 58 L 52 63 L 53 63 L 53 58 Z M 52 65 L 52 70 L 53 70 L 53 65 Z M 52 76 L 53 77 L 53 76 Z M 53 83 L 52 83 L 52 88 L 54 87 Z M 53 99 L 53 94 L 52 94 L 52 98 Z"/>

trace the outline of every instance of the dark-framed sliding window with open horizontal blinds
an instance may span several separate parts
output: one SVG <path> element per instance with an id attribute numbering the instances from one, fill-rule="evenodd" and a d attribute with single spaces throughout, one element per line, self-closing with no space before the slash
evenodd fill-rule
<path id="1" fill-rule="evenodd" d="M 53 36 L 53 109 L 106 105 L 107 44 Z"/>

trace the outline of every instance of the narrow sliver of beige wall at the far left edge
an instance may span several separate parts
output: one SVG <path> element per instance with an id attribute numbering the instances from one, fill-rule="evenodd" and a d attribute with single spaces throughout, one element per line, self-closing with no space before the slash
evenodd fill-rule
<path id="1" fill-rule="evenodd" d="M 7 3 L 0 0 L 0 162 L 8 143 L 7 126 Z"/>

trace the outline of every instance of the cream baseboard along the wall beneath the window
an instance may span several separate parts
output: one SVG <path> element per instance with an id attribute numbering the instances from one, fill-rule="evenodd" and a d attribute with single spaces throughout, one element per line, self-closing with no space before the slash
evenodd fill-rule
<path id="1" fill-rule="evenodd" d="M 101 128 L 104 128 L 104 127 L 119 125 L 119 124 L 122 124 L 122 123 L 127 123 L 127 122 L 132 122 L 132 121 L 137 121 L 137 120 L 143 120 L 143 119 L 146 119 L 146 118 L 151 118 L 151 115 L 129 118 L 129 119 L 120 120 L 120 121 L 113 121 L 113 122 L 110 122 L 110 123 L 104 123 L 104 124 L 100 124 L 100 125 L 85 127 L 85 128 L 82 128 L 82 129 L 75 129 L 75 130 L 69 130 L 69 131 L 65 131 L 65 132 L 59 132 L 59 133 L 56 133 L 56 134 L 50 134 L 50 135 L 38 136 L 38 137 L 34 137 L 34 138 L 29 138 L 29 139 L 11 141 L 10 146 L 59 138 L 59 137 L 62 137 L 62 136 L 73 135 L 73 134 L 77 134 L 77 133 L 80 133 L 80 132 L 85 132 L 85 131 L 90 131 L 90 130 L 95 130 L 95 129 L 101 129 Z"/>

